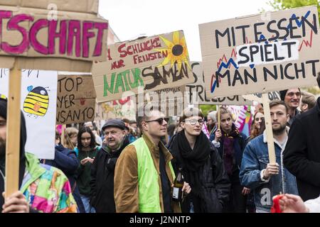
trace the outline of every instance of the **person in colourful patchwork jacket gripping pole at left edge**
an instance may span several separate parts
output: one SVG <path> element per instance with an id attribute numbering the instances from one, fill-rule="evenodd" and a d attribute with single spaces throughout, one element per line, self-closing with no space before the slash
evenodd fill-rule
<path id="1" fill-rule="evenodd" d="M 21 112 L 20 112 L 21 113 Z M 18 185 L 4 201 L 6 177 L 6 114 L 7 101 L 0 99 L 0 211 L 2 213 L 65 213 L 76 212 L 77 205 L 70 183 L 61 170 L 39 163 L 35 155 L 26 153 L 26 121 L 21 113 L 20 160 Z"/>

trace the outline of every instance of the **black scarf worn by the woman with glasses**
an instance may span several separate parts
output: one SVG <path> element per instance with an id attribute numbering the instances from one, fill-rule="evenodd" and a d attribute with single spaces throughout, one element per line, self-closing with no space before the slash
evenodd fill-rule
<path id="1" fill-rule="evenodd" d="M 210 157 L 210 141 L 208 137 L 201 132 L 196 138 L 193 149 L 191 149 L 184 130 L 180 131 L 177 133 L 176 139 L 172 141 L 170 150 L 175 158 L 176 165 L 182 167 L 185 181 L 191 186 L 193 203 L 204 204 L 201 202 L 203 199 L 201 167 L 205 165 Z M 199 210 L 203 210 L 203 208 L 199 208 Z"/>

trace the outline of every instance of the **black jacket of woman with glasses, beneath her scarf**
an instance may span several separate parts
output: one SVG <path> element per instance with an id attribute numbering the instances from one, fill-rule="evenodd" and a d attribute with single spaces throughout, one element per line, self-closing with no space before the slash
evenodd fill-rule
<path id="1" fill-rule="evenodd" d="M 172 150 L 172 145 L 177 143 L 175 140 L 176 135 L 171 138 L 168 145 L 170 152 L 173 154 L 174 152 Z M 209 140 L 208 143 L 210 143 Z M 174 157 L 172 165 L 174 170 L 178 169 L 179 164 L 176 162 L 176 157 Z M 212 143 L 210 143 L 210 156 L 200 170 L 202 172 L 201 179 L 203 185 L 203 195 L 206 201 L 206 212 L 220 213 L 223 211 L 223 206 L 229 199 L 230 182 L 227 172 L 225 172 L 223 160 L 218 154 L 218 150 L 213 146 Z M 188 213 L 190 211 L 191 197 L 192 187 L 191 194 L 186 196 L 186 199 L 184 199 L 183 203 L 181 204 L 181 211 L 183 213 Z"/>

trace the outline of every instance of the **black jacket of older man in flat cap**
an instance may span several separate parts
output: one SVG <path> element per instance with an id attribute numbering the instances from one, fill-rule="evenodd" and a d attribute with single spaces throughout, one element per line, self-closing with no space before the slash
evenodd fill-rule
<path id="1" fill-rule="evenodd" d="M 121 147 L 114 152 L 101 148 L 91 167 L 90 204 L 97 213 L 115 213 L 114 204 L 114 167 L 122 150 L 129 145 L 126 136 Z"/>

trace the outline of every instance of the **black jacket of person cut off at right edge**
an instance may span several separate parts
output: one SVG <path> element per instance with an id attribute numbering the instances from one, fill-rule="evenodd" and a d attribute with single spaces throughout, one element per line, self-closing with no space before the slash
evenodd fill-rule
<path id="1" fill-rule="evenodd" d="M 297 177 L 304 201 L 320 194 L 320 98 L 316 106 L 299 114 L 289 131 L 284 150 L 284 166 Z"/>

